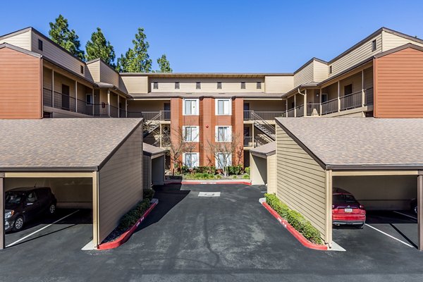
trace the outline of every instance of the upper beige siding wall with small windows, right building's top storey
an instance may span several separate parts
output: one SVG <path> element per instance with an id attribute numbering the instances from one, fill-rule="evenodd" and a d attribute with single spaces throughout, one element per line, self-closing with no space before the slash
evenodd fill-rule
<path id="1" fill-rule="evenodd" d="M 376 50 L 372 51 L 372 41 L 376 39 Z M 341 58 L 336 59 L 329 63 L 329 66 L 332 66 L 332 73 L 329 74 L 329 77 L 341 73 L 346 69 L 355 66 L 357 63 L 369 59 L 371 56 L 380 53 L 382 50 L 382 36 L 381 34 L 375 35 L 366 42 L 360 44 L 360 46 L 349 51 L 347 54 L 341 56 Z M 329 71 L 329 67 L 328 67 Z"/>

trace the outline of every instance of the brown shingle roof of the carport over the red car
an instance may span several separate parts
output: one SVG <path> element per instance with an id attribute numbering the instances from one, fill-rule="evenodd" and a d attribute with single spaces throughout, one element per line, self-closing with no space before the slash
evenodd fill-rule
<path id="1" fill-rule="evenodd" d="M 423 169 L 423 119 L 276 118 L 326 168 Z"/>

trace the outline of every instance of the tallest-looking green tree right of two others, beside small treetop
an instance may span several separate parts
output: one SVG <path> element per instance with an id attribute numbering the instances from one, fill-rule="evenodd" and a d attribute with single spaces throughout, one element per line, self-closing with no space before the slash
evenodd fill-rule
<path id="1" fill-rule="evenodd" d="M 118 58 L 117 69 L 124 73 L 150 73 L 152 71 L 152 59 L 149 59 L 149 44 L 144 28 L 138 27 L 138 32 L 133 39 L 134 47 L 126 51 L 125 56 Z"/>

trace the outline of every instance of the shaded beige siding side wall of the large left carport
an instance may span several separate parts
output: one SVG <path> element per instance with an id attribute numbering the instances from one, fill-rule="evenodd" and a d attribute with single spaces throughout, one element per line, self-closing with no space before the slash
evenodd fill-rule
<path id="1" fill-rule="evenodd" d="M 142 200 L 142 126 L 99 171 L 99 241 Z"/>

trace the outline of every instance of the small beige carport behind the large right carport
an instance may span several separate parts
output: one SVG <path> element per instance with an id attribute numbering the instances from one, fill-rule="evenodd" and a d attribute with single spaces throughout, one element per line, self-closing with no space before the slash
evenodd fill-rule
<path id="1" fill-rule="evenodd" d="M 276 142 L 250 149 L 252 185 L 266 185 L 268 193 L 276 192 Z"/>

